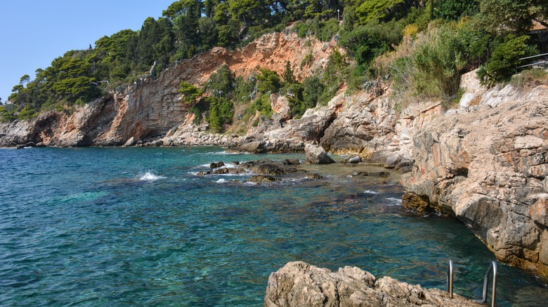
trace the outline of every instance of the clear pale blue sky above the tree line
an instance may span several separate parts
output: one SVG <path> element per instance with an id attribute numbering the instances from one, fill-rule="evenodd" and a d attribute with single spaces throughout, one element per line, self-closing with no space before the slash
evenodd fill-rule
<path id="1" fill-rule="evenodd" d="M 1 0 L 0 97 L 4 103 L 22 76 L 34 79 L 68 50 L 123 29 L 138 30 L 175 0 Z"/>

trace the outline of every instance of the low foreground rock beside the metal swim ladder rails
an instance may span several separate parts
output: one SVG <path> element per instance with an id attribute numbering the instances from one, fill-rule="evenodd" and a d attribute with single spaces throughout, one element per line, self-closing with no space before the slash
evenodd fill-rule
<path id="1" fill-rule="evenodd" d="M 332 272 L 304 262 L 289 262 L 268 278 L 266 307 L 282 306 L 483 306 L 439 289 L 424 289 L 393 278 L 377 280 L 346 266 Z"/>

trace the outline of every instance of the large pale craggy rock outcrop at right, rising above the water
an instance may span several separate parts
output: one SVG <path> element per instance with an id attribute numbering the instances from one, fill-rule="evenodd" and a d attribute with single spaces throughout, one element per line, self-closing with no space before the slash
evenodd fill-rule
<path id="1" fill-rule="evenodd" d="M 413 137 L 404 205 L 464 221 L 497 259 L 548 275 L 548 87 L 492 89 Z"/>

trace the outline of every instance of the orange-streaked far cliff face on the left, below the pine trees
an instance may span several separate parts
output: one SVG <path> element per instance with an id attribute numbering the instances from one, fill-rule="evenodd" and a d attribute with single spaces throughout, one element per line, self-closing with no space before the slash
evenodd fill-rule
<path id="1" fill-rule="evenodd" d="M 259 67 L 283 71 L 287 60 L 292 63 L 296 78 L 302 80 L 325 67 L 334 48 L 334 42 L 300 39 L 289 31 L 262 36 L 242 50 L 213 48 L 163 71 L 157 79 L 140 79 L 74 113 L 52 111 L 30 123 L 0 123 L 0 146 L 30 142 L 46 146 L 117 146 L 131 138 L 146 141 L 164 137 L 181 125 L 180 131 L 185 135 L 182 139 L 172 137 L 169 144 L 200 142 L 200 137 L 190 136 L 198 129 L 188 127 L 190 106 L 183 103 L 178 93 L 181 80 L 204 83 L 223 64 L 237 76 L 254 74 Z M 301 68 L 307 55 L 314 60 Z M 228 142 L 222 137 L 208 140 L 211 144 Z"/>

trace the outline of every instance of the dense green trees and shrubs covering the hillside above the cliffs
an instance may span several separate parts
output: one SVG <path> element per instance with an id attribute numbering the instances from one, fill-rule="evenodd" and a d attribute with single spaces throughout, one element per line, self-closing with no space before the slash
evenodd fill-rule
<path id="1" fill-rule="evenodd" d="M 346 56 L 335 52 L 322 74 L 302 83 L 290 63 L 280 76 L 261 69 L 249 79 L 235 78 L 226 67 L 202 88 L 182 81 L 181 94 L 198 121 L 203 114 L 211 128 L 222 130 L 232 121 L 234 103 L 252 103 L 249 110 L 269 116 L 270 93 L 286 95 L 290 115 L 299 117 L 326 104 L 341 84 L 355 90 L 377 79 L 393 81 L 401 97 L 443 99 L 459 90 L 459 73 L 477 67 L 487 85 L 509 81 L 518 59 L 537 52 L 527 31 L 534 20 L 547 25 L 546 12 L 548 0 L 179 0 L 138 31 L 70 50 L 37 69 L 34 80 L 22 76 L 8 98 L 12 104 L 0 107 L 0 119 L 85 104 L 213 46 L 243 46 L 290 22 L 300 36 L 335 37 Z M 310 55 L 298 64 L 313 60 Z"/>

